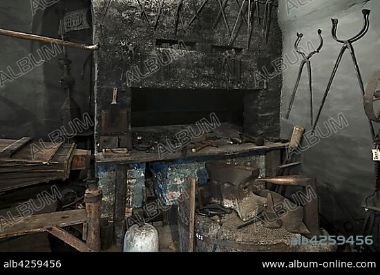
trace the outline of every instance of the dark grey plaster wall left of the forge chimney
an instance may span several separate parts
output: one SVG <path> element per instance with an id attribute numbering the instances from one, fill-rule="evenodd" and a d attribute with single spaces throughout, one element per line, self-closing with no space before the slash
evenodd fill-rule
<path id="1" fill-rule="evenodd" d="M 85 1 L 64 1 L 67 11 L 82 8 L 84 3 Z M 31 1 L 0 1 L 0 28 L 58 37 L 59 19 L 55 12 L 56 5 L 44 10 L 37 9 L 33 16 Z M 70 32 L 68 38 L 70 41 L 91 43 L 91 30 Z M 8 74 L 7 68 L 10 66 L 18 74 L 17 61 L 29 57 L 30 54 L 39 62 L 41 58 L 37 50 L 43 46 L 52 48 L 50 44 L 1 36 L 0 71 Z M 71 73 L 76 80 L 73 97 L 81 107 L 82 113 L 87 113 L 90 109 L 90 67 L 87 66 L 84 79 L 81 79 L 81 73 L 88 52 L 69 49 L 68 55 L 73 59 Z M 59 56 L 48 59 L 40 66 L 33 66 L 28 73 L 12 82 L 6 81 L 4 86 L 0 87 L 0 138 L 18 139 L 29 136 L 35 140 L 43 138 L 49 141 L 48 133 L 61 127 L 60 108 L 66 99 L 66 93 L 59 84 L 62 75 L 58 63 Z"/>

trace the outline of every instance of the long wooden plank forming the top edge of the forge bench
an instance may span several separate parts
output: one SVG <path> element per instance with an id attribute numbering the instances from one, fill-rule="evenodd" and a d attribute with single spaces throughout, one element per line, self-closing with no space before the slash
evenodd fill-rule
<path id="1" fill-rule="evenodd" d="M 202 158 L 209 156 L 238 156 L 245 155 L 249 153 L 255 153 L 258 151 L 270 151 L 273 149 L 283 149 L 288 145 L 288 143 L 273 143 L 266 142 L 265 146 L 257 146 L 251 143 L 238 144 L 238 145 L 225 145 L 219 146 L 218 148 L 207 147 L 198 151 L 196 153 L 189 152 L 186 156 L 182 157 L 181 150 L 175 151 L 171 154 L 160 155 L 158 153 L 146 153 L 144 151 L 131 151 L 129 155 L 122 153 L 114 154 L 104 154 L 96 153 L 95 158 L 97 163 L 117 163 L 117 164 L 129 164 L 136 162 L 155 162 L 155 161 L 165 161 L 165 160 L 176 160 L 176 159 L 189 159 L 189 158 Z"/>

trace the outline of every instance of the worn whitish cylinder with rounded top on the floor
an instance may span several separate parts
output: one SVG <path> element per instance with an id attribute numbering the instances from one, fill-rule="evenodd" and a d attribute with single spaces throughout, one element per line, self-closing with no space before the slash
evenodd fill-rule
<path id="1" fill-rule="evenodd" d="M 158 245 L 158 231 L 153 225 L 133 225 L 124 236 L 124 252 L 158 252 Z"/>

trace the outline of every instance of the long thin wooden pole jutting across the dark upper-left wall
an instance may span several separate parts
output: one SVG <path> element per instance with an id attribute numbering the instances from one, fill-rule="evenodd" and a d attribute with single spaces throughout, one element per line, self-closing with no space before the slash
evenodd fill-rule
<path id="1" fill-rule="evenodd" d="M 42 43 L 55 43 L 61 46 L 70 47 L 70 48 L 79 48 L 82 50 L 98 50 L 99 44 L 96 45 L 86 45 L 86 44 L 78 44 L 70 41 L 64 41 L 61 39 L 55 39 L 51 37 L 44 37 L 41 35 L 31 35 L 29 33 L 25 32 L 15 32 L 13 30 L 5 30 L 0 28 L 0 35 L 4 35 L 7 37 L 15 37 L 19 39 L 25 39 L 25 40 L 32 40 L 32 41 L 39 41 Z"/>

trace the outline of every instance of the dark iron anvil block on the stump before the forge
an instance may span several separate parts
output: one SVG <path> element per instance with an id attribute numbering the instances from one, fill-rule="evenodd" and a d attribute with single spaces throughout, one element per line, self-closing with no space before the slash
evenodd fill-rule
<path id="1" fill-rule="evenodd" d="M 265 198 L 254 194 L 259 169 L 220 161 L 207 162 L 205 166 L 210 178 L 211 200 L 235 209 L 242 220 L 250 220 L 263 211 Z"/>

